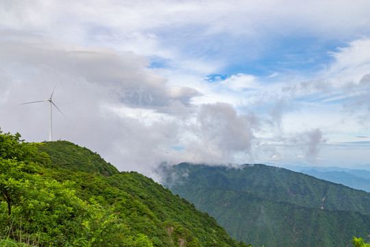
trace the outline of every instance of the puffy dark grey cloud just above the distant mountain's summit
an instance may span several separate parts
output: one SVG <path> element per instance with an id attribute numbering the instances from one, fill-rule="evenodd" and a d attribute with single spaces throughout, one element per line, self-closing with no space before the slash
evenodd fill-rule
<path id="1" fill-rule="evenodd" d="M 228 163 L 234 161 L 237 152 L 246 160 L 253 155 L 256 125 L 254 115 L 238 114 L 230 104 L 204 104 L 193 126 L 199 142 L 192 143 L 188 150 L 196 155 L 195 161 Z"/>

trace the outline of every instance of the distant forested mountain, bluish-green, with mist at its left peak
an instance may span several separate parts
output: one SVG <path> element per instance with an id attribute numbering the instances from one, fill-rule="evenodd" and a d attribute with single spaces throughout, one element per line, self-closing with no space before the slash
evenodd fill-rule
<path id="1" fill-rule="evenodd" d="M 350 246 L 370 232 L 370 193 L 267 165 L 182 163 L 164 185 L 234 238 L 264 246 Z"/>

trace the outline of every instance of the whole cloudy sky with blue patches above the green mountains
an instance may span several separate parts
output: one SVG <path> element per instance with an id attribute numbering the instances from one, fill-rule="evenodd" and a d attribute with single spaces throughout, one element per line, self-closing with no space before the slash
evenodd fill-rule
<path id="1" fill-rule="evenodd" d="M 121 171 L 370 163 L 370 1 L 0 1 L 0 128 Z"/>

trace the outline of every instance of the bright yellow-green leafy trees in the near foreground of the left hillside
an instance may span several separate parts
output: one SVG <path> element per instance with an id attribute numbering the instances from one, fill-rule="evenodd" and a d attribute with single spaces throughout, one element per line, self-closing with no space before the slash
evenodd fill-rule
<path id="1" fill-rule="evenodd" d="M 7 207 L 0 204 L 0 212 L 7 208 L 8 219 L 2 217 L 0 224 L 16 226 L 13 239 L 23 242 L 18 236 L 38 235 L 45 246 L 114 246 L 123 241 L 125 224 L 114 207 L 78 198 L 72 183 L 45 180 L 35 172 L 40 169 L 36 165 L 8 159 L 1 161 L 1 169 L 0 192 Z"/>

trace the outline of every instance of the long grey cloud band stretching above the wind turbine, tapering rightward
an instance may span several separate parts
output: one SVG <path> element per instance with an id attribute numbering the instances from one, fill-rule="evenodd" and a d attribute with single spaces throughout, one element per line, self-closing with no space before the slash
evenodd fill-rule
<path id="1" fill-rule="evenodd" d="M 27 38 L 27 37 L 23 37 Z M 27 39 L 26 39 L 27 40 Z M 47 42 L 1 40 L 3 62 L 23 64 L 25 69 L 49 68 L 98 84 L 130 106 L 161 108 L 171 100 L 189 105 L 199 95 L 186 86 L 171 88 L 166 79 L 153 73 L 149 61 L 132 52 L 76 47 Z"/>

